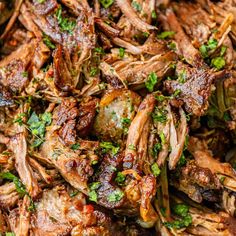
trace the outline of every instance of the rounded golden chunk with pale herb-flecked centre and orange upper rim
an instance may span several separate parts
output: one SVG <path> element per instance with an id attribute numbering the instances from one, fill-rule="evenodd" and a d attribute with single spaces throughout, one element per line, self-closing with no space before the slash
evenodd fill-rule
<path id="1" fill-rule="evenodd" d="M 121 140 L 126 134 L 124 128 L 134 118 L 139 103 L 140 97 L 130 90 L 117 89 L 105 94 L 94 124 L 95 134 L 103 140 Z"/>

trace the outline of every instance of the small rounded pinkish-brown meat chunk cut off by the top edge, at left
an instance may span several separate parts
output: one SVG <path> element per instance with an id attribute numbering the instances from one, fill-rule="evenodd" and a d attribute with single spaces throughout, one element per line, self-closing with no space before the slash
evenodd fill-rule
<path id="1" fill-rule="evenodd" d="M 47 15 L 58 6 L 56 0 L 46 0 L 43 1 L 42 3 L 37 0 L 33 0 L 33 4 L 34 4 L 33 5 L 34 11 L 38 15 Z"/>

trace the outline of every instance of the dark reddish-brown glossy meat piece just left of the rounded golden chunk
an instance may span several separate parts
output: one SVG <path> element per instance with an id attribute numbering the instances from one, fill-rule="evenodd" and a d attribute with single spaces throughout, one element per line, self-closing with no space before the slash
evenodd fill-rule
<path id="1" fill-rule="evenodd" d="M 89 134 L 96 115 L 96 108 L 99 104 L 99 99 L 87 97 L 79 105 L 78 122 L 76 129 L 80 137 L 85 137 Z"/>

